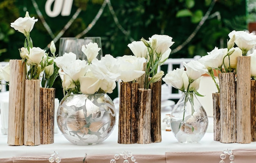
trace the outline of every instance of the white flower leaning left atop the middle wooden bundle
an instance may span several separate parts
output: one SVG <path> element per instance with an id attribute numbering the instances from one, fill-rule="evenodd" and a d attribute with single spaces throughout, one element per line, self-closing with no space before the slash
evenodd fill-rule
<path id="1" fill-rule="evenodd" d="M 128 47 L 136 57 L 143 57 L 148 59 L 148 49 L 142 41 L 132 41 Z"/>

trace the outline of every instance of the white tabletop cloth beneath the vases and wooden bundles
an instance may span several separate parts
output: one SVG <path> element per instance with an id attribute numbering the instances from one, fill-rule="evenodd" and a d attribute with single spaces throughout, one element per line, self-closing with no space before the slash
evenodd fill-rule
<path id="1" fill-rule="evenodd" d="M 162 110 L 162 118 L 168 110 Z M 209 129 L 199 143 L 185 144 L 179 143 L 172 132 L 162 130 L 162 142 L 150 144 L 119 144 L 118 120 L 112 134 L 102 143 L 96 145 L 79 146 L 67 141 L 61 133 L 54 134 L 54 143 L 39 146 L 9 146 L 7 144 L 7 135 L 0 134 L 0 158 L 9 158 L 13 156 L 49 156 L 54 151 L 59 153 L 61 158 L 83 157 L 97 154 L 118 154 L 123 151 L 130 151 L 133 154 L 160 154 L 166 152 L 206 152 L 222 151 L 227 148 L 231 150 L 256 149 L 256 142 L 249 144 L 239 143 L 220 143 L 213 140 L 213 118 L 209 117 Z"/>

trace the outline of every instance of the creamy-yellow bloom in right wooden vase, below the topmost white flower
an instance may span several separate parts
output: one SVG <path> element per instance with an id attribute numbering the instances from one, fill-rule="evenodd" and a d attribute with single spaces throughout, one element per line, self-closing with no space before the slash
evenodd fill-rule
<path id="1" fill-rule="evenodd" d="M 237 57 L 242 56 L 242 50 L 238 47 L 236 48 L 231 48 L 230 51 L 235 50 L 229 57 L 225 57 L 224 59 L 224 64 L 227 68 L 234 68 L 236 69 L 237 65 Z M 230 67 L 229 67 L 229 62 L 230 62 Z"/>

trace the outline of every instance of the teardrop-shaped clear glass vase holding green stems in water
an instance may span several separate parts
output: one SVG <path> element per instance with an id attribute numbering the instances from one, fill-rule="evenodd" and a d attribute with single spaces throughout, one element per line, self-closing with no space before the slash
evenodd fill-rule
<path id="1" fill-rule="evenodd" d="M 198 143 L 208 127 L 208 117 L 195 93 L 183 93 L 171 112 L 171 128 L 180 143 Z"/>

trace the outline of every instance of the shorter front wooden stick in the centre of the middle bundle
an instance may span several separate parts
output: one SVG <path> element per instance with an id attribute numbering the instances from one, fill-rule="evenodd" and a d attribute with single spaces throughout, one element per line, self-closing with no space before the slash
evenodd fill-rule
<path id="1" fill-rule="evenodd" d="M 151 89 L 138 89 L 138 142 L 139 144 L 151 143 L 150 137 L 150 109 L 151 109 Z"/>

